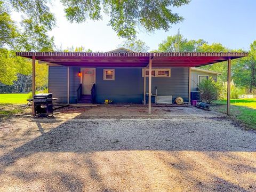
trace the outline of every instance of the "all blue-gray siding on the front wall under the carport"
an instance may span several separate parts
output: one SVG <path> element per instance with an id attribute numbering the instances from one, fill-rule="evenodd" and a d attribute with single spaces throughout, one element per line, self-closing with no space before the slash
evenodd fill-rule
<path id="1" fill-rule="evenodd" d="M 143 77 L 142 68 L 108 68 L 115 69 L 115 80 L 103 80 L 103 69 L 96 68 L 96 102 L 102 103 L 105 99 L 115 103 L 142 103 Z M 70 103 L 76 103 L 77 88 L 80 77 L 77 73 L 80 67 L 70 67 Z M 146 91 L 148 92 L 148 78 L 146 78 Z M 153 77 L 152 93 L 155 94 L 157 86 L 158 95 L 172 95 L 173 101 L 182 97 L 188 101 L 188 68 L 171 68 L 171 77 Z M 53 97 L 59 98 L 57 102 L 67 102 L 67 67 L 49 66 L 49 92 Z"/>

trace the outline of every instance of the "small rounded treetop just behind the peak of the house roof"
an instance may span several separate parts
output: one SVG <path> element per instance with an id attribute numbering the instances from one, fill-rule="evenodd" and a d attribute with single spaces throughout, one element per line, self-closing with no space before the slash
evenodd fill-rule
<path id="1" fill-rule="evenodd" d="M 126 40 L 123 43 L 119 44 L 118 47 L 124 47 L 125 49 L 134 51 L 134 52 L 148 52 L 149 46 L 141 40 Z"/>

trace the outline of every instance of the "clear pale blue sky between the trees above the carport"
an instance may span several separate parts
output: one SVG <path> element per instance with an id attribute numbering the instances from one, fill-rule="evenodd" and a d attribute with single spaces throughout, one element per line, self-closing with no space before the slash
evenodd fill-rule
<path id="1" fill-rule="evenodd" d="M 107 26 L 108 17 L 101 21 L 69 23 L 58 0 L 52 3 L 52 12 L 57 18 L 57 27 L 50 31 L 55 44 L 65 49 L 71 46 L 84 46 L 93 51 L 116 49 L 124 41 Z M 147 34 L 143 29 L 138 39 L 144 41 L 150 50 L 169 35 L 181 34 L 188 39 L 202 38 L 209 43 L 219 42 L 230 49 L 249 49 L 256 40 L 256 1 L 254 0 L 192 0 L 188 5 L 173 10 L 185 20 L 174 25 L 169 31 L 157 30 Z"/>

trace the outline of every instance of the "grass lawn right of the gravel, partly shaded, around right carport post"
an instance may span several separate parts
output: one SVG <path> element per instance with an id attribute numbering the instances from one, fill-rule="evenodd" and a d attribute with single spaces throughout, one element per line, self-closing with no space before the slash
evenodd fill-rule
<path id="1" fill-rule="evenodd" d="M 227 100 L 219 100 L 215 103 L 219 105 L 213 106 L 213 109 L 226 113 Z M 256 130 L 256 98 L 231 99 L 230 104 L 230 116 Z"/>

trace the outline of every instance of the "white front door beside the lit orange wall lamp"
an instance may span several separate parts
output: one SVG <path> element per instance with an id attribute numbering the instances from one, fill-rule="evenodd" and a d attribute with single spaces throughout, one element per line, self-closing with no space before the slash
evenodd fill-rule
<path id="1" fill-rule="evenodd" d="M 82 68 L 83 94 L 91 94 L 92 84 L 95 83 L 95 68 Z"/>

